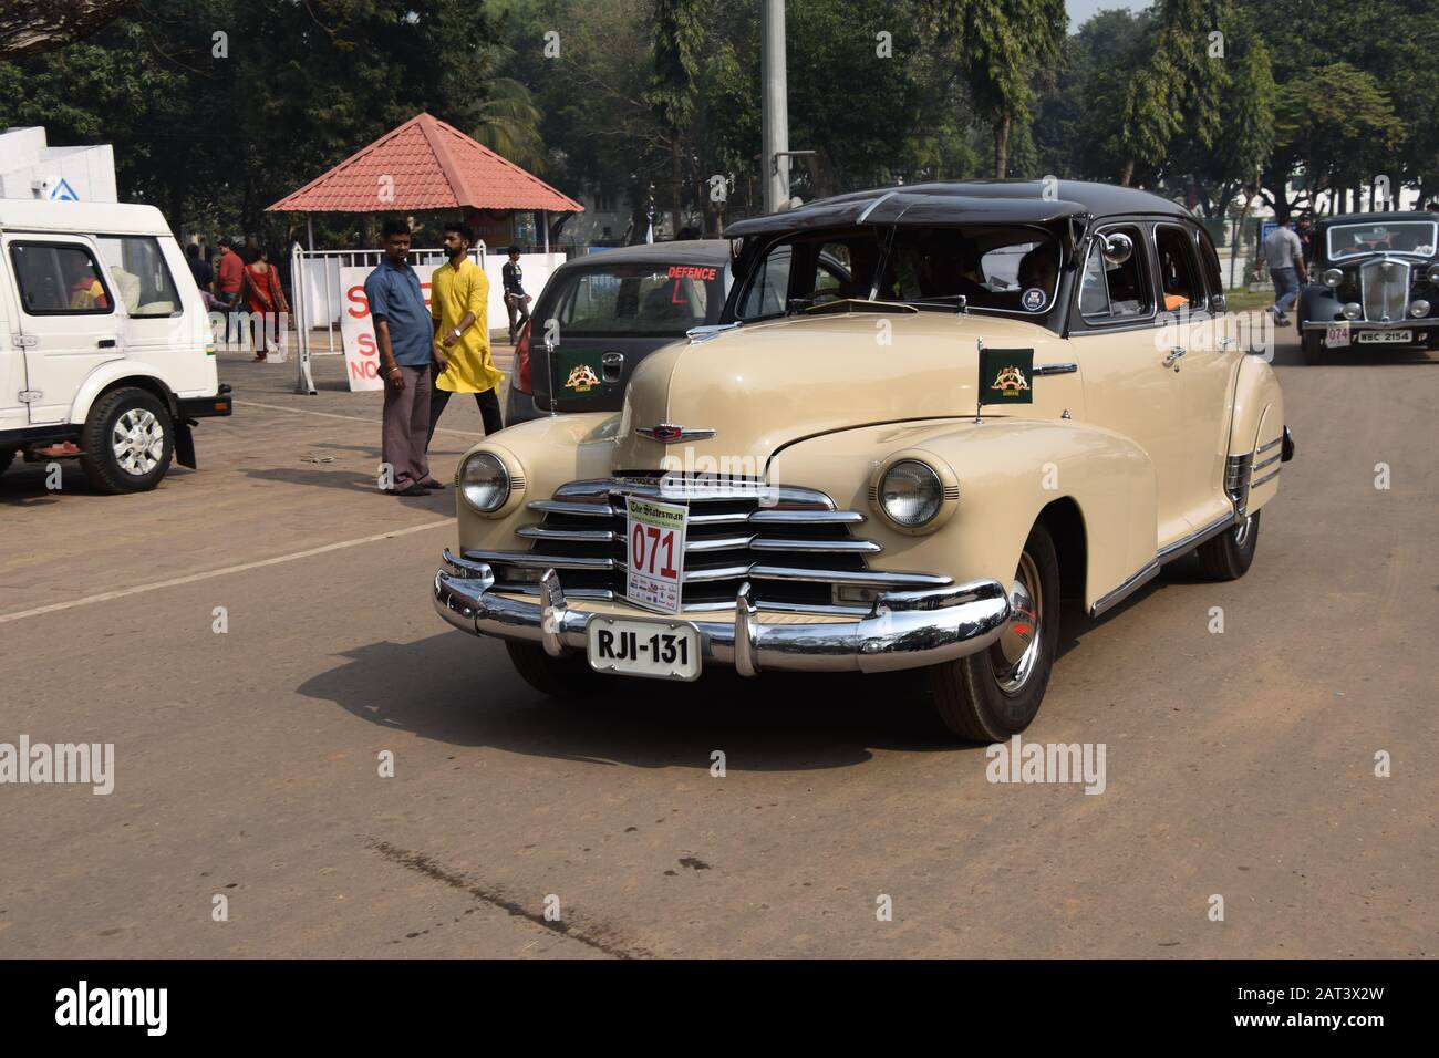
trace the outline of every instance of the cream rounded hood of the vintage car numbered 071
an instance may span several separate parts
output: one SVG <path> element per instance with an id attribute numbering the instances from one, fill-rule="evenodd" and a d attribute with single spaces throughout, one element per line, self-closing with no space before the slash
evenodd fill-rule
<path id="1" fill-rule="evenodd" d="M 1035 363 L 1061 357 L 1058 347 L 1068 344 L 1017 320 L 849 312 L 750 324 L 661 350 L 630 379 L 612 469 L 692 465 L 757 475 L 778 449 L 803 438 L 973 416 L 980 340 L 991 348 L 1033 348 Z M 666 445 L 636 433 L 661 423 L 714 436 Z"/>

